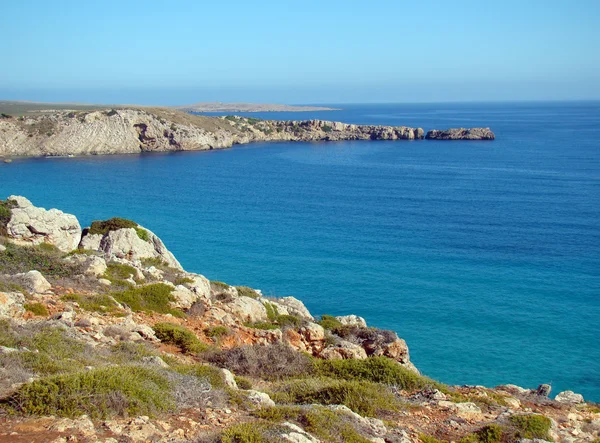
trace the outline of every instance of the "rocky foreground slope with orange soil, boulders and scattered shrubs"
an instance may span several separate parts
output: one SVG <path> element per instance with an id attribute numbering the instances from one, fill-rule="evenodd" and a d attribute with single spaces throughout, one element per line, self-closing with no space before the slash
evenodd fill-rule
<path id="1" fill-rule="evenodd" d="M 433 381 L 394 332 L 187 272 L 135 222 L 0 200 L 0 443 L 598 441 L 550 390 Z"/>

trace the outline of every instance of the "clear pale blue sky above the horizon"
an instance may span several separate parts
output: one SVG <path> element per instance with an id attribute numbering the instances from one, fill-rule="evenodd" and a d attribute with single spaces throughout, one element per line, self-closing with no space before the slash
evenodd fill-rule
<path id="1" fill-rule="evenodd" d="M 0 99 L 600 99 L 598 0 L 1 0 Z"/>

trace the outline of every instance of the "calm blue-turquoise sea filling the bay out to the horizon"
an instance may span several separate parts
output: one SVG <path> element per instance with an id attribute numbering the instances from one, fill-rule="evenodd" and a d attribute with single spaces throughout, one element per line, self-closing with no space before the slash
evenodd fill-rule
<path id="1" fill-rule="evenodd" d="M 600 401 L 600 103 L 344 107 L 262 116 L 497 140 L 20 160 L 0 196 L 133 218 L 189 270 L 396 330 L 442 381 Z"/>

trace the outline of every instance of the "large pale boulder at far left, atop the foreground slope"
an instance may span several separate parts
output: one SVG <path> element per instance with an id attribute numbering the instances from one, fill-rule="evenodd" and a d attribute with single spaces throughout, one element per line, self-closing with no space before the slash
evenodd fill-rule
<path id="1" fill-rule="evenodd" d="M 16 202 L 6 226 L 8 237 L 18 244 L 49 243 L 63 252 L 77 248 L 81 226 L 77 218 L 58 209 L 38 208 L 25 197 L 11 195 Z"/>

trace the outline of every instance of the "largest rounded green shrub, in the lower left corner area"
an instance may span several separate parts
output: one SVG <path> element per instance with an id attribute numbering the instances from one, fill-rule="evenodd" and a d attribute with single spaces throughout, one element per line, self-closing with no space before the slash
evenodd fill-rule
<path id="1" fill-rule="evenodd" d="M 157 371 L 112 366 L 28 383 L 4 400 L 15 412 L 92 418 L 154 415 L 173 409 L 169 383 Z"/>

